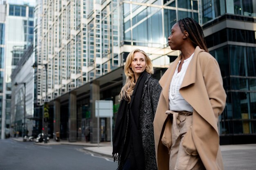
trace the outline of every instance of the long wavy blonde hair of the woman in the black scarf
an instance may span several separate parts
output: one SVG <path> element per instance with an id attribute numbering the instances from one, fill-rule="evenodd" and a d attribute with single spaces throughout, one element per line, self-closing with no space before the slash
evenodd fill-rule
<path id="1" fill-rule="evenodd" d="M 132 68 L 130 68 L 130 65 L 132 63 L 134 54 L 137 52 L 140 52 L 145 56 L 145 60 L 147 63 L 147 66 L 145 68 L 146 72 L 150 73 L 150 74 L 154 74 L 153 64 L 152 64 L 150 58 L 148 57 L 148 55 L 144 51 L 142 51 L 140 49 L 135 49 L 129 53 L 128 57 L 126 58 L 126 63 L 124 65 L 124 73 L 126 75 L 126 84 L 123 86 L 123 88 L 121 89 L 121 92 L 119 94 L 120 99 L 124 98 L 129 103 L 131 100 L 131 95 L 132 95 L 133 89 L 135 87 L 135 75 L 134 75 L 134 72 L 132 71 Z"/>

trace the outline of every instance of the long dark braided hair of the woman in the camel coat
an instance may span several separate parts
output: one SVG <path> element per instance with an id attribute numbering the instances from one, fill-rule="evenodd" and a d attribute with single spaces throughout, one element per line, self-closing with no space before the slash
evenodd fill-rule
<path id="1" fill-rule="evenodd" d="M 194 44 L 194 46 L 199 46 L 206 52 L 209 52 L 204 39 L 204 33 L 202 27 L 192 18 L 183 18 L 178 21 L 182 33 L 187 31 L 189 33 L 189 39 Z"/>

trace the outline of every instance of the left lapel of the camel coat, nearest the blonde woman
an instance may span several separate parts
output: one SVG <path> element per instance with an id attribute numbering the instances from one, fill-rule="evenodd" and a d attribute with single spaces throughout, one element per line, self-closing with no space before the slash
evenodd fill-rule
<path id="1" fill-rule="evenodd" d="M 160 86 L 162 86 L 162 94 L 165 98 L 166 105 L 169 106 L 169 88 L 171 84 L 171 79 L 173 78 L 173 74 L 175 72 L 176 66 L 178 62 L 180 61 L 181 56 L 179 55 L 176 60 L 170 65 L 170 67 L 166 70 L 164 75 L 159 80 Z M 169 107 L 168 107 L 169 108 Z"/>

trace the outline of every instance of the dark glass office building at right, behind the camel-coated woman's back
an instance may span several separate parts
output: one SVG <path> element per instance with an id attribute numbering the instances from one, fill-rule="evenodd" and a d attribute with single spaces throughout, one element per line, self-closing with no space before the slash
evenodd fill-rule
<path id="1" fill-rule="evenodd" d="M 227 103 L 220 143 L 256 142 L 256 1 L 202 1 L 204 35 L 220 64 Z"/>

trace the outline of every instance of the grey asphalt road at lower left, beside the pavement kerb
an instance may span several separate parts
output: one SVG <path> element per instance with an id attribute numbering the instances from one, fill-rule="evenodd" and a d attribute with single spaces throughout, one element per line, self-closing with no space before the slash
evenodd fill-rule
<path id="1" fill-rule="evenodd" d="M 117 163 L 83 150 L 84 146 L 35 145 L 0 140 L 0 170 L 115 170 Z"/>

